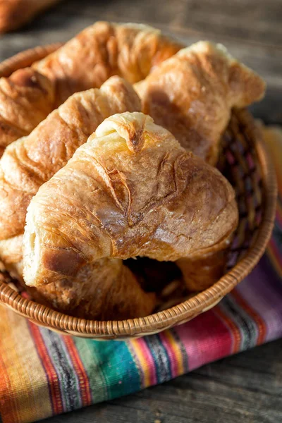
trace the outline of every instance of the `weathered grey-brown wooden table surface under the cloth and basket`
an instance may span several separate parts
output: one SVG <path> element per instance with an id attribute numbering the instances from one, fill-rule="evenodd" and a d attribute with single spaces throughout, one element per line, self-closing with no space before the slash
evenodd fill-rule
<path id="1" fill-rule="evenodd" d="M 65 41 L 101 19 L 149 23 L 187 44 L 222 42 L 268 84 L 252 112 L 266 123 L 282 124 L 281 0 L 66 0 L 1 37 L 0 61 L 35 45 Z M 46 422 L 282 422 L 282 340 Z"/>

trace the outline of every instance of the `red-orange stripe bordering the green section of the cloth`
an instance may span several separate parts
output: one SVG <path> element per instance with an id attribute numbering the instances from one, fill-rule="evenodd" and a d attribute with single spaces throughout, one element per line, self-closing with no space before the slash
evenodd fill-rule
<path id="1" fill-rule="evenodd" d="M 68 354 L 71 358 L 71 361 L 73 362 L 75 372 L 78 375 L 82 407 L 85 407 L 92 403 L 88 375 L 85 370 L 85 367 L 82 364 L 82 361 L 80 360 L 80 355 L 78 354 L 78 350 L 75 346 L 73 338 L 71 338 L 71 336 L 66 335 L 63 336 L 63 341 L 65 342 L 66 348 L 68 349 Z"/>

